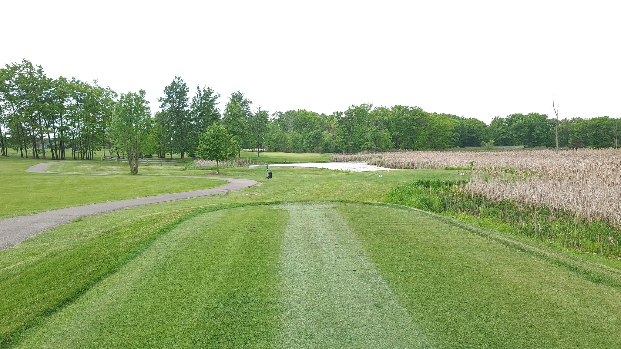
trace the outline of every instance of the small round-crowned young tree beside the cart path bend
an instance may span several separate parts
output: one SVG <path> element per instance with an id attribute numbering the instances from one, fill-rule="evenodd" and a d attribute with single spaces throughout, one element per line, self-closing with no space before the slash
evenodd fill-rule
<path id="1" fill-rule="evenodd" d="M 231 159 L 239 152 L 237 138 L 222 125 L 211 125 L 202 133 L 196 147 L 196 156 L 216 162 L 216 172 L 220 172 L 219 162 Z"/>

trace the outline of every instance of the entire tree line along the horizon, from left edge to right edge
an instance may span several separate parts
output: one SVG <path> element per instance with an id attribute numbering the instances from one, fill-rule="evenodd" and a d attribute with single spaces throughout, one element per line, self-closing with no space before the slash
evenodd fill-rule
<path id="1" fill-rule="evenodd" d="M 140 156 L 197 156 L 199 141 L 211 125 L 224 126 L 240 148 L 284 152 L 388 151 L 461 148 L 465 146 L 527 146 L 555 148 L 556 120 L 545 114 L 496 117 L 489 125 L 476 118 L 430 113 L 420 107 L 351 105 L 330 115 L 307 110 L 269 113 L 252 108 L 242 92 L 233 92 L 219 107 L 211 87 L 196 87 L 190 95 L 186 82 L 175 76 L 158 99 L 152 115 L 144 91 L 125 94 L 142 99 L 148 134 L 141 140 Z M 28 60 L 0 69 L 0 148 L 19 156 L 42 159 L 93 159 L 104 155 L 125 157 L 125 144 L 114 142 L 109 130 L 112 114 L 123 99 L 97 81 L 76 77 L 51 79 L 41 66 Z M 132 103 L 134 103 L 132 102 Z M 125 104 L 129 102 L 124 101 Z M 141 102 L 142 103 L 142 102 Z M 135 103 L 134 103 L 135 105 Z M 148 114 L 148 115 L 147 115 Z M 132 124 L 133 125 L 133 124 Z M 129 127 L 129 126 L 128 126 Z M 559 121 L 559 146 L 617 147 L 618 121 L 609 117 Z M 117 130 L 119 131 L 119 130 Z"/>

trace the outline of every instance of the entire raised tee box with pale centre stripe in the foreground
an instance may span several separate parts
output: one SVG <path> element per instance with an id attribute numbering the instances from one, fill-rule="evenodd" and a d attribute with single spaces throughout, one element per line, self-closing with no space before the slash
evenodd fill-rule
<path id="1" fill-rule="evenodd" d="M 613 348 L 620 299 L 416 211 L 283 203 L 188 216 L 17 347 Z"/>

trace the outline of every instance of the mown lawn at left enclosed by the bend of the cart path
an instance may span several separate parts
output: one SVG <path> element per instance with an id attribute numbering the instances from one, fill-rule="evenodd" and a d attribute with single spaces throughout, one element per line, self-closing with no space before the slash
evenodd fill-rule
<path id="1" fill-rule="evenodd" d="M 89 203 L 187 192 L 217 187 L 225 183 L 220 180 L 165 178 L 142 174 L 132 177 L 103 177 L 25 172 L 28 167 L 40 162 L 42 161 L 19 157 L 0 158 L 0 180 L 2 181 L 0 219 Z M 73 161 L 63 164 L 78 163 L 102 164 L 103 162 Z M 63 164 L 55 166 L 63 166 Z M 115 166 L 115 169 L 116 174 L 128 174 L 129 172 L 127 164 Z M 179 172 L 175 172 L 175 175 L 183 175 L 180 169 L 179 167 Z M 105 173 L 88 169 L 68 172 Z"/>

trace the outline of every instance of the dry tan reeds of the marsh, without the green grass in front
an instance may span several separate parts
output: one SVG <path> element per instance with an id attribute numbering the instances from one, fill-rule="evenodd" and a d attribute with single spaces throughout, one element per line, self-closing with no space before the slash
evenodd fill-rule
<path id="1" fill-rule="evenodd" d="M 336 155 L 333 161 L 368 161 L 401 169 L 475 170 L 470 193 L 571 211 L 586 219 L 621 224 L 621 151 L 404 151 Z"/>

